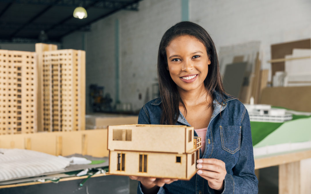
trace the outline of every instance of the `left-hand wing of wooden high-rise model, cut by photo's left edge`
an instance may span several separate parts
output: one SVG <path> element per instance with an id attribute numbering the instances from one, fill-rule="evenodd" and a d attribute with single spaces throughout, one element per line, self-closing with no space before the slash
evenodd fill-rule
<path id="1" fill-rule="evenodd" d="M 35 52 L 0 50 L 0 134 L 36 131 Z"/>

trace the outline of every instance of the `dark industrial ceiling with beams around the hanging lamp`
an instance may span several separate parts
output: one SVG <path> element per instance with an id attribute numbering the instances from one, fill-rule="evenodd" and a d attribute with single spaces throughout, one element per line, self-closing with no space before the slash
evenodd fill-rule
<path id="1" fill-rule="evenodd" d="M 76 30 L 90 30 L 91 23 L 119 10 L 138 11 L 141 0 L 0 0 L 0 42 L 59 42 Z M 73 17 L 76 7 L 87 18 Z"/>

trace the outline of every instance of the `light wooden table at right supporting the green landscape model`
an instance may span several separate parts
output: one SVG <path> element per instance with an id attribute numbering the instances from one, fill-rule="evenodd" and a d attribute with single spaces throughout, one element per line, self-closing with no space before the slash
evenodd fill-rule
<path id="1" fill-rule="evenodd" d="M 311 149 L 255 156 L 255 171 L 279 166 L 279 194 L 311 193 Z M 258 175 L 257 175 L 258 176 Z"/>

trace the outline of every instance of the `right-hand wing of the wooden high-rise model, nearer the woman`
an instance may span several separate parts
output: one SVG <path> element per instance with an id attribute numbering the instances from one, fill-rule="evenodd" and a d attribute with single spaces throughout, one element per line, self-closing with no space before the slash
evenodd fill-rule
<path id="1" fill-rule="evenodd" d="M 43 131 L 85 129 L 85 51 L 53 50 L 36 44 L 42 56 Z M 42 51 L 48 50 L 48 51 Z"/>

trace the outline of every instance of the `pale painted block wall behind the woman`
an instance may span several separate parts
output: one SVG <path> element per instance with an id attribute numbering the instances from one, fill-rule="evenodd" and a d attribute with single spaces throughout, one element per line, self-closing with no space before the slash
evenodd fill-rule
<path id="1" fill-rule="evenodd" d="M 136 110 L 151 99 L 161 36 L 187 16 L 207 29 L 217 48 L 260 41 L 262 68 L 271 69 L 267 63 L 271 44 L 310 38 L 310 10 L 308 0 L 143 0 L 139 11 L 119 11 L 95 22 L 91 32 L 84 36 L 81 32 L 66 36 L 63 48 L 84 47 L 86 85 L 102 85 L 114 99 L 113 103 L 119 98 L 121 102 L 132 103 Z M 88 88 L 86 91 L 88 100 Z M 86 105 L 90 112 L 88 101 Z"/>

